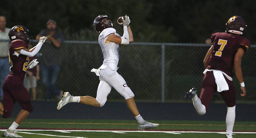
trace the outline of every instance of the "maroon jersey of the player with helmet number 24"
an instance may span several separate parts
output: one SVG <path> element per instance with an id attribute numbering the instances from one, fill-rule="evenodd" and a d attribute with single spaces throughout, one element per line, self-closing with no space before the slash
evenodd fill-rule
<path id="1" fill-rule="evenodd" d="M 14 40 L 9 48 L 10 74 L 17 75 L 23 81 L 27 72 L 29 57 L 15 53 L 17 50 L 28 48 L 28 43 L 22 40 Z"/>

